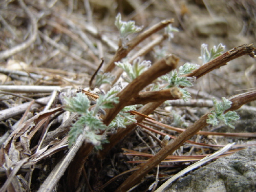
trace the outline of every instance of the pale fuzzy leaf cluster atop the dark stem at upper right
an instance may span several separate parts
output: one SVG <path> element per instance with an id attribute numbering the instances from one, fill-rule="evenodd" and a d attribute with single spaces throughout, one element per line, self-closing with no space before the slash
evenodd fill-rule
<path id="1" fill-rule="evenodd" d="M 220 56 L 222 54 L 222 51 L 225 50 L 225 46 L 223 46 L 222 44 L 219 44 L 217 47 L 214 46 L 213 48 L 210 49 L 210 51 L 208 51 L 207 47 L 208 47 L 207 44 L 201 45 L 201 56 L 199 58 L 202 59 L 203 64 Z"/>

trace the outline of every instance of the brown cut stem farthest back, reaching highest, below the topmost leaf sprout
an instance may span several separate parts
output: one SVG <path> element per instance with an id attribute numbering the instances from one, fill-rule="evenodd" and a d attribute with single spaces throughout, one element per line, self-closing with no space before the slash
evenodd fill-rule
<path id="1" fill-rule="evenodd" d="M 115 62 L 120 61 L 122 58 L 126 57 L 126 55 L 133 50 L 141 41 L 146 39 L 147 37 L 151 36 L 152 34 L 156 33 L 157 31 L 163 29 L 169 24 L 172 24 L 174 19 L 170 20 L 163 20 L 162 22 L 154 25 L 150 29 L 144 31 L 143 33 L 139 34 L 137 37 L 132 39 L 130 42 L 127 43 L 126 46 L 123 46 L 118 49 L 115 56 L 111 59 L 105 69 L 106 72 L 111 72 L 115 68 Z"/>

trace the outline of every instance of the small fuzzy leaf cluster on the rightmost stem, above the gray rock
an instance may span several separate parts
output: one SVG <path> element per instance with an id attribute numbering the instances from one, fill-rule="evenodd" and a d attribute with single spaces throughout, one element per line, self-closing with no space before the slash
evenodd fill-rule
<path id="1" fill-rule="evenodd" d="M 215 98 L 212 98 L 214 103 L 214 110 L 208 115 L 206 122 L 212 125 L 218 125 L 220 121 L 223 121 L 226 125 L 234 129 L 233 121 L 239 119 L 239 115 L 234 111 L 229 111 L 224 114 L 224 111 L 231 107 L 232 102 L 222 97 L 222 102 L 218 102 Z"/>

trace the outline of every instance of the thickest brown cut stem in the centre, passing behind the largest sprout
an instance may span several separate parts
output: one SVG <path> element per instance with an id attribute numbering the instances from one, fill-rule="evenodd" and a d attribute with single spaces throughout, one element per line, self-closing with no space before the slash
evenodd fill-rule
<path id="1" fill-rule="evenodd" d="M 113 109 L 110 109 L 106 112 L 105 119 L 103 120 L 104 124 L 109 125 L 109 123 L 115 118 L 119 111 L 127 105 L 127 102 L 129 102 L 131 98 L 136 96 L 139 91 L 141 91 L 144 87 L 150 84 L 153 80 L 155 80 L 159 76 L 166 74 L 169 71 L 174 70 L 178 64 L 178 61 L 179 59 L 177 57 L 173 55 L 168 55 L 167 57 L 156 62 L 151 68 L 149 68 L 147 71 L 134 79 L 117 95 L 117 97 L 119 97 L 119 103 L 116 104 Z M 83 163 L 86 161 L 87 156 L 90 154 L 92 149 L 93 147 L 91 144 L 84 144 L 81 146 L 78 153 L 76 154 L 76 161 L 73 162 L 70 166 L 69 173 L 72 173 L 73 170 L 77 170 L 75 176 L 69 174 L 70 182 L 74 182 L 75 179 L 78 180 L 78 178 L 80 177 Z M 69 186 L 71 188 L 74 187 L 72 185 Z"/>

